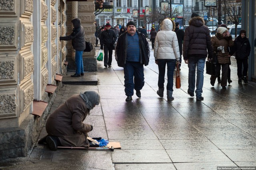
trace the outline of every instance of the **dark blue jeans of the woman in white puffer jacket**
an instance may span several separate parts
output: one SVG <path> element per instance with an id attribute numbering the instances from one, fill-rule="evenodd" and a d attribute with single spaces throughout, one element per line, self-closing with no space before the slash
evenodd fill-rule
<path id="1" fill-rule="evenodd" d="M 165 75 L 165 66 L 167 63 L 167 86 L 166 89 L 173 91 L 173 72 L 175 68 L 176 59 L 158 59 L 158 87 L 164 88 L 164 75 Z"/>

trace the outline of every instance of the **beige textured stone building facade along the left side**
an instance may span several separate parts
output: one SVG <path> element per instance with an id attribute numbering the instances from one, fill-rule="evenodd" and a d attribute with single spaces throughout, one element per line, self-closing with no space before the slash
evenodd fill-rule
<path id="1" fill-rule="evenodd" d="M 58 91 L 56 73 L 75 69 L 71 41 L 59 37 L 80 18 L 86 41 L 95 43 L 94 10 L 94 0 L 1 0 L 0 159 L 26 156 L 36 142 L 56 95 L 46 93 L 46 85 Z M 95 49 L 83 54 L 85 71 L 97 71 L 94 55 Z M 42 115 L 32 115 L 33 101 L 48 103 Z"/>

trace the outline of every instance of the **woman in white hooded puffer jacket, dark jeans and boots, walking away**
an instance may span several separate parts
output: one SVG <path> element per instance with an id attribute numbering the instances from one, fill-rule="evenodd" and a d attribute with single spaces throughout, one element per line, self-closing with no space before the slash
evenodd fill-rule
<path id="1" fill-rule="evenodd" d="M 167 99 L 173 100 L 173 73 L 176 62 L 180 60 L 180 50 L 176 33 L 174 21 L 166 18 L 162 22 L 162 30 L 156 34 L 154 45 L 155 62 L 158 65 L 158 91 L 160 97 L 164 97 L 164 75 L 167 64 Z"/>

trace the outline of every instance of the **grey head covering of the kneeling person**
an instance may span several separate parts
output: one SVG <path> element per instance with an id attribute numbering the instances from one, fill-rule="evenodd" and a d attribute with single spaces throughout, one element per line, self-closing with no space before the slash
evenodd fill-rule
<path id="1" fill-rule="evenodd" d="M 96 91 L 86 91 L 84 93 L 80 93 L 80 96 L 89 110 L 94 108 L 95 105 L 100 104 L 100 95 Z"/>

